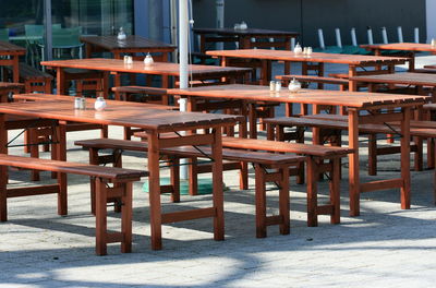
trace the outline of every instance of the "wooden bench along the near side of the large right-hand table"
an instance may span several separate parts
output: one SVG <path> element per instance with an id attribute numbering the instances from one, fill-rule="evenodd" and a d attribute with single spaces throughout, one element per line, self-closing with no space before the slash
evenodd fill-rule
<path id="1" fill-rule="evenodd" d="M 145 134 L 135 133 L 135 136 L 145 139 Z M 307 225 L 317 226 L 317 215 L 330 215 L 330 221 L 332 224 L 339 223 L 339 179 L 340 179 L 340 158 L 346 157 L 352 153 L 350 148 L 342 147 L 327 147 L 322 145 L 311 145 L 301 143 L 284 143 L 275 142 L 268 140 L 257 139 L 240 139 L 240 137 L 222 137 L 222 146 L 227 148 L 242 149 L 240 153 L 247 153 L 249 151 L 263 151 L 274 153 L 292 153 L 300 154 L 307 157 Z M 198 155 L 198 157 L 202 157 Z M 225 157 L 223 157 L 225 158 Z M 329 160 L 329 164 L 318 165 L 324 160 Z M 250 160 L 249 160 L 250 161 Z M 231 166 L 230 166 L 231 167 Z M 228 168 L 225 166 L 225 168 Z M 293 169 L 292 175 L 300 177 L 300 182 L 303 179 L 303 169 L 298 166 L 299 169 Z M 234 168 L 231 168 L 234 169 Z M 246 168 L 245 168 L 246 169 Z M 195 181 L 196 176 L 199 172 L 210 172 L 210 168 L 201 167 L 197 169 L 194 165 L 190 167 L 190 181 Z M 331 179 L 330 185 L 330 203 L 327 205 L 317 204 L 316 185 L 318 173 L 329 172 Z M 241 168 L 241 189 L 247 189 L 247 175 L 244 168 Z M 194 183 L 190 183 L 190 189 L 195 191 Z"/>

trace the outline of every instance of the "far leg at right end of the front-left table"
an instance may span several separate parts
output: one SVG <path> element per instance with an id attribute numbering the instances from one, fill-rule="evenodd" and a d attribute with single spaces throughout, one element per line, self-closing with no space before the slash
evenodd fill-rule
<path id="1" fill-rule="evenodd" d="M 222 192 L 222 142 L 221 128 L 214 129 L 214 143 L 211 145 L 211 156 L 214 164 L 211 166 L 213 193 L 214 193 L 214 239 L 225 240 L 225 206 Z"/>

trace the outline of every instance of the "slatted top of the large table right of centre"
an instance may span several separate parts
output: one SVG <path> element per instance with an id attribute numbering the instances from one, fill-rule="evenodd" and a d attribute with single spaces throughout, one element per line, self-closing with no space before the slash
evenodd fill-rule
<path id="1" fill-rule="evenodd" d="M 198 96 L 210 98 L 232 98 L 253 101 L 278 101 L 301 103 L 315 105 L 338 105 L 358 109 L 371 108 L 372 106 L 396 106 L 407 104 L 424 104 L 427 96 L 382 94 L 365 92 L 342 92 L 322 89 L 301 89 L 291 93 L 283 88 L 279 93 L 269 92 L 267 86 L 257 85 L 219 85 L 203 86 L 186 89 L 169 89 L 169 94 L 181 96 Z"/>

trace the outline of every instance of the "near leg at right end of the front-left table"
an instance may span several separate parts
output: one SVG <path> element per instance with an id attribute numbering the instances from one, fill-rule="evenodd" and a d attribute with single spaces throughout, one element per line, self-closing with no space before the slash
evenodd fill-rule
<path id="1" fill-rule="evenodd" d="M 157 132 L 148 133 L 148 191 L 152 228 L 152 249 L 162 249 L 162 216 L 160 208 L 159 139 Z"/>

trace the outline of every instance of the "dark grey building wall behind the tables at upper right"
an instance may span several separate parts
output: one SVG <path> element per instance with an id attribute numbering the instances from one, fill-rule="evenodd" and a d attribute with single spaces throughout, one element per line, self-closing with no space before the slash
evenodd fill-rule
<path id="1" fill-rule="evenodd" d="M 215 25 L 215 0 L 193 0 L 196 27 Z M 397 41 L 402 26 L 404 41 L 413 40 L 414 27 L 420 41 L 426 40 L 425 0 L 227 0 L 225 25 L 245 21 L 249 27 L 296 31 L 300 41 L 318 46 L 317 29 L 323 28 L 327 46 L 335 45 L 335 28 L 342 44 L 351 43 L 350 28 L 355 27 L 358 41 L 366 43 L 366 27 L 373 28 L 374 41 L 382 41 L 385 26 L 389 41 Z"/>

